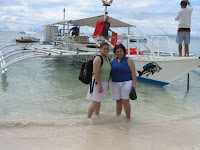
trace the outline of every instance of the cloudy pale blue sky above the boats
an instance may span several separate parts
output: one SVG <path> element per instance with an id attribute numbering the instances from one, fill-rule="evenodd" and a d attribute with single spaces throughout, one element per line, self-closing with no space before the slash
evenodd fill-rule
<path id="1" fill-rule="evenodd" d="M 136 25 L 135 34 L 176 35 L 181 0 L 113 0 L 108 15 Z M 0 30 L 42 32 L 46 24 L 103 15 L 101 0 L 0 0 Z M 190 0 L 191 35 L 200 37 L 200 0 Z"/>

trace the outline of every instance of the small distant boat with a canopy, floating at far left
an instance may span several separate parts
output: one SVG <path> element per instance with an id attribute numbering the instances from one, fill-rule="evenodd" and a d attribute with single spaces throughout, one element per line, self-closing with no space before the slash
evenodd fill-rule
<path id="1" fill-rule="evenodd" d="M 34 34 L 33 34 L 34 35 Z M 35 43 L 40 42 L 40 39 L 35 38 L 32 34 L 27 34 L 24 31 L 19 32 L 19 38 L 15 39 L 16 43 Z"/>

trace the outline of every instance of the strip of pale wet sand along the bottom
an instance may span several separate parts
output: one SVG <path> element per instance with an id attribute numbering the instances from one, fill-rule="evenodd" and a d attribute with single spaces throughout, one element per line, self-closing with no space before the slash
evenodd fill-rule
<path id="1" fill-rule="evenodd" d="M 2 150 L 200 150 L 200 119 L 1 128 Z"/>

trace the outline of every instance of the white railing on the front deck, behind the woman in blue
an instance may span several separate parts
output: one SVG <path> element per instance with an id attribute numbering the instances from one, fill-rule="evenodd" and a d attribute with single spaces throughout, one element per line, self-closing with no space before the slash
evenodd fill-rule
<path id="1" fill-rule="evenodd" d="M 130 56 L 130 41 L 131 41 L 131 38 L 136 38 L 136 51 L 137 51 L 137 56 L 139 55 L 139 51 L 140 51 L 140 39 L 141 38 L 145 38 L 146 39 L 146 43 L 148 44 L 149 46 L 149 51 L 150 51 L 150 56 L 157 56 L 157 57 L 160 57 L 161 55 L 170 55 L 171 57 L 173 57 L 173 53 L 172 53 L 172 48 L 171 48 L 171 44 L 170 44 L 170 40 L 169 40 L 169 37 L 167 36 L 150 36 L 150 41 L 149 41 L 149 36 L 144 36 L 144 35 L 127 35 L 128 37 L 128 55 Z M 158 41 L 158 49 L 155 50 L 154 49 L 154 45 L 155 45 L 155 39 L 157 39 Z M 168 48 L 169 48 L 169 52 L 162 52 L 160 50 L 160 46 L 161 46 L 161 40 L 167 40 L 167 44 L 168 44 Z"/>

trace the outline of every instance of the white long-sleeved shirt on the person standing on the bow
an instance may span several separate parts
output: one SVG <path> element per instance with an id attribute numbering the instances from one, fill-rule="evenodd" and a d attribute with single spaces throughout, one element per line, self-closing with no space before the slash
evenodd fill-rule
<path id="1" fill-rule="evenodd" d="M 190 28 L 192 11 L 193 7 L 189 5 L 189 7 L 183 8 L 177 12 L 175 20 L 178 20 L 178 28 Z"/>

